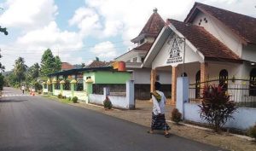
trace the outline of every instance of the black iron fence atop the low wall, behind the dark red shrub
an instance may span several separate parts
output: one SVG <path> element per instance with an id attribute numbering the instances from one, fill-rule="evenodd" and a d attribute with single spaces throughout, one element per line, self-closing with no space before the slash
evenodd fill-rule
<path id="1" fill-rule="evenodd" d="M 256 81 L 250 79 L 215 79 L 189 84 L 189 102 L 201 103 L 202 85 L 212 84 L 222 85 L 237 107 L 256 107 Z"/>

